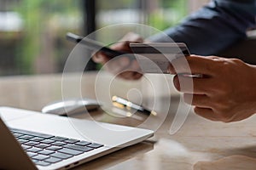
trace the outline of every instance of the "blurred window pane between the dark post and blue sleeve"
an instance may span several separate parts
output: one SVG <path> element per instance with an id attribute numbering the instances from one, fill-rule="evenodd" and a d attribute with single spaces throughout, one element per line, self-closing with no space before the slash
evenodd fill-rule
<path id="1" fill-rule="evenodd" d="M 164 30 L 169 26 L 175 26 L 189 11 L 188 0 L 112 0 L 112 3 L 109 0 L 97 0 L 96 2 L 98 29 L 119 23 L 139 23 Z M 111 37 L 120 34 L 118 30 L 113 31 Z"/>

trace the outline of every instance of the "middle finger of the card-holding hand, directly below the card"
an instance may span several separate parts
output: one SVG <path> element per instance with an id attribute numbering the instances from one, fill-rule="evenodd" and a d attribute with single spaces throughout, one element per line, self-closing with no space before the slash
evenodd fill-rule
<path id="1" fill-rule="evenodd" d="M 192 78 L 176 75 L 173 77 L 173 84 L 177 91 L 186 94 L 210 94 L 212 78 Z"/>

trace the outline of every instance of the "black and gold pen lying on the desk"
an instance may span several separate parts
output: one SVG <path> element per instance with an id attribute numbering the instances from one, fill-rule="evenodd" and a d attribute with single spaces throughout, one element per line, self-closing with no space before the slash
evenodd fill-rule
<path id="1" fill-rule="evenodd" d="M 144 108 L 142 105 L 134 104 L 131 101 L 128 101 L 127 99 L 123 99 L 115 95 L 112 97 L 112 102 L 114 106 L 119 107 L 121 109 L 124 109 L 124 108 L 126 108 L 127 110 L 133 109 L 136 111 L 140 111 L 146 115 L 154 115 L 154 116 L 157 115 L 155 111 L 149 111 L 148 109 Z"/>

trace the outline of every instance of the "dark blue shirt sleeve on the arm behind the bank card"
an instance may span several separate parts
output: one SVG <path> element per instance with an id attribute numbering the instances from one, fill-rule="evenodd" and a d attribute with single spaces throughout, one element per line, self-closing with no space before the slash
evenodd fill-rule
<path id="1" fill-rule="evenodd" d="M 173 42 L 185 42 L 191 54 L 218 54 L 247 37 L 247 30 L 255 27 L 255 14 L 254 0 L 213 0 L 164 32 Z M 162 35 L 149 37 L 149 41 L 166 42 Z"/>

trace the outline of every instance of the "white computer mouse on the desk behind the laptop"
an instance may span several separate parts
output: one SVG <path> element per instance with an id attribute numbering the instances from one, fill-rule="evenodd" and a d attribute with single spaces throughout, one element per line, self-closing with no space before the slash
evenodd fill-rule
<path id="1" fill-rule="evenodd" d="M 43 113 L 51 113 L 55 115 L 72 115 L 79 113 L 87 113 L 95 111 L 101 107 L 101 104 L 96 99 L 65 99 L 55 101 L 49 105 L 45 105 L 42 109 Z"/>

